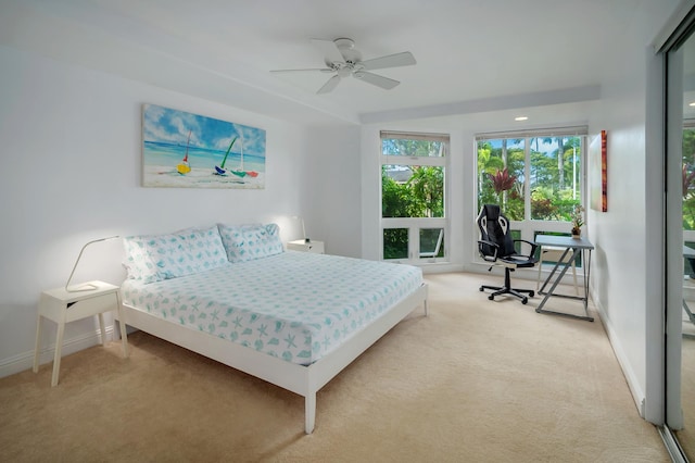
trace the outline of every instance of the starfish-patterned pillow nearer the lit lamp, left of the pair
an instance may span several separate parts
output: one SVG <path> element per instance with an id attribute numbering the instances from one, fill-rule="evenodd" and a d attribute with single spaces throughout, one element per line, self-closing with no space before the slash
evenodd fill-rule
<path id="1" fill-rule="evenodd" d="M 128 278 L 143 283 L 176 278 L 228 263 L 216 226 L 170 235 L 129 236 L 123 242 Z"/>

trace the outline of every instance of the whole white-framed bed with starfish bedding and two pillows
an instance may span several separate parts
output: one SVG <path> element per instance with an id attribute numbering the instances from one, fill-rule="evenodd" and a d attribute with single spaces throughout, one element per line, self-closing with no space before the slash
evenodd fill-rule
<path id="1" fill-rule="evenodd" d="M 285 251 L 277 225 L 127 237 L 127 325 L 295 392 L 316 392 L 422 306 L 410 265 Z"/>

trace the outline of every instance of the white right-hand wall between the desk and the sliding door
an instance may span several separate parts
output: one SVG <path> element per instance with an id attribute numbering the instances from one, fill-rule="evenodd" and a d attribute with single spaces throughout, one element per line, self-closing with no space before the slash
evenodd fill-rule
<path id="1" fill-rule="evenodd" d="M 646 147 L 647 128 L 660 125 L 662 109 L 653 101 L 661 76 L 648 45 L 667 17 L 658 5 L 639 11 L 627 32 L 634 46 L 626 48 L 623 74 L 604 82 L 602 108 L 590 125 L 593 134 L 608 133 L 608 212 L 590 211 L 589 217 L 596 246 L 593 299 L 640 413 L 656 424 L 665 398 L 662 164 L 660 152 Z"/>

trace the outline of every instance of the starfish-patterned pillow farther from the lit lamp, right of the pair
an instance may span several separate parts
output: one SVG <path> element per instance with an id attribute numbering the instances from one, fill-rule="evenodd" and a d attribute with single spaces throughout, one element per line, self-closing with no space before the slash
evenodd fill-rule
<path id="1" fill-rule="evenodd" d="M 229 262 L 245 262 L 285 252 L 280 227 L 268 225 L 219 225 Z"/>

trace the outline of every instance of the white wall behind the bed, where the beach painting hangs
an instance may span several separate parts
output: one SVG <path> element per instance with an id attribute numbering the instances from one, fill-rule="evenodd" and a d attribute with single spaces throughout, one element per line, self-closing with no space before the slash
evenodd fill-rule
<path id="1" fill-rule="evenodd" d="M 283 225 L 288 216 L 306 213 L 307 228 L 334 238 L 336 249 L 352 254 L 359 249 L 358 234 L 351 236 L 350 227 L 336 230 L 358 216 L 358 200 L 356 205 L 343 201 L 346 216 L 336 227 L 327 214 L 338 193 L 321 197 L 320 190 L 329 182 L 320 171 L 342 170 L 350 176 L 334 189 L 358 196 L 358 188 L 350 186 L 358 184 L 358 159 L 351 163 L 333 150 L 339 158 L 333 170 L 317 141 L 307 141 L 316 130 L 10 48 L 0 47 L 0 376 L 30 366 L 39 292 L 65 283 L 90 239 L 217 222 Z M 266 188 L 141 187 L 144 102 L 264 128 Z M 358 135 L 354 139 L 348 151 L 358 158 Z M 350 145 L 349 137 L 340 141 Z M 311 211 L 303 195 L 309 197 Z M 317 197 L 321 200 L 315 203 Z M 331 225 L 319 226 L 321 221 Z M 75 280 L 118 284 L 124 277 L 121 254 L 118 240 L 90 247 Z M 94 343 L 94 333 L 92 320 L 70 324 L 64 352 Z M 49 328 L 43 346 L 53 342 Z M 49 359 L 50 353 L 43 355 Z"/>

